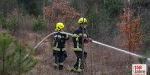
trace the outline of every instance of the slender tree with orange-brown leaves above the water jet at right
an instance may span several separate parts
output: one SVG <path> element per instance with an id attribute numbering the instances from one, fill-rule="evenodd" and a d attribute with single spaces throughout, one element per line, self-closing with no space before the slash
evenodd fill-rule
<path id="1" fill-rule="evenodd" d="M 134 16 L 130 8 L 124 8 L 124 13 L 120 15 L 120 36 L 126 40 L 121 46 L 135 52 L 139 44 L 142 44 L 142 27 L 140 27 L 140 17 Z"/>

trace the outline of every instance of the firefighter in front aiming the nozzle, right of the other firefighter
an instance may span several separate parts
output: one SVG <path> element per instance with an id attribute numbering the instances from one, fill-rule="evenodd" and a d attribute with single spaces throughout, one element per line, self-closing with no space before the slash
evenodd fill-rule
<path id="1" fill-rule="evenodd" d="M 82 69 L 84 67 L 82 61 L 83 59 L 85 60 L 87 57 L 87 52 L 83 51 L 82 46 L 85 43 L 92 42 L 92 40 L 88 38 L 86 34 L 87 19 L 83 17 L 80 18 L 78 20 L 78 24 L 79 27 L 73 32 L 72 35 L 72 40 L 74 43 L 74 53 L 76 54 L 77 61 L 74 64 L 73 69 L 71 69 L 71 72 L 82 72 Z M 84 42 L 82 42 L 82 40 L 84 40 Z"/>

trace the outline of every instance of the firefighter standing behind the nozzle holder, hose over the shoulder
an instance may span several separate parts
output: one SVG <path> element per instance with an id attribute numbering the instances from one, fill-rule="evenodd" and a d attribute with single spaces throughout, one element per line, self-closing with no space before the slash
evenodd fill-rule
<path id="1" fill-rule="evenodd" d="M 69 36 L 66 34 L 62 34 L 64 29 L 64 24 L 59 22 L 56 24 L 55 31 L 57 33 L 54 34 L 54 48 L 53 48 L 53 56 L 55 57 L 54 68 L 63 70 L 63 63 L 67 57 L 67 53 L 65 51 L 65 42 L 69 39 Z"/>

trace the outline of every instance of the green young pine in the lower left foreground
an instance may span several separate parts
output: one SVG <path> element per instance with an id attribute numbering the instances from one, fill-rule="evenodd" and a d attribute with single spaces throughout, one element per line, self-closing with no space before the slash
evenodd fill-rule
<path id="1" fill-rule="evenodd" d="M 0 75 L 20 75 L 30 71 L 38 60 L 29 56 L 27 44 L 21 44 L 11 35 L 3 33 L 0 36 Z"/>

